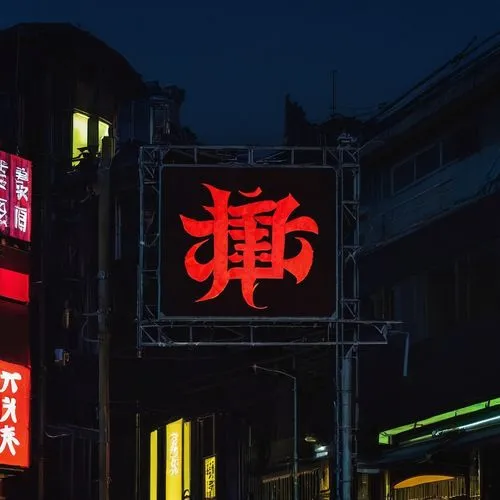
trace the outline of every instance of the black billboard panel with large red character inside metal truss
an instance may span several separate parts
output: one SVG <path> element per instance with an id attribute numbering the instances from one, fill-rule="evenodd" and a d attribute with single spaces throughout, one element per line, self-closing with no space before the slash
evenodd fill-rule
<path id="1" fill-rule="evenodd" d="M 166 166 L 163 175 L 166 316 L 335 313 L 333 168 Z"/>

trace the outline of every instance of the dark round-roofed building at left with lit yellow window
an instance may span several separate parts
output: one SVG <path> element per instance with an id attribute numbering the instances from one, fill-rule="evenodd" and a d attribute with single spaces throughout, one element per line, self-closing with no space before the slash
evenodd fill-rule
<path id="1" fill-rule="evenodd" d="M 139 75 L 69 24 L 0 32 L 2 148 L 33 161 L 32 467 L 7 498 L 95 498 L 97 220 L 101 140 Z"/>

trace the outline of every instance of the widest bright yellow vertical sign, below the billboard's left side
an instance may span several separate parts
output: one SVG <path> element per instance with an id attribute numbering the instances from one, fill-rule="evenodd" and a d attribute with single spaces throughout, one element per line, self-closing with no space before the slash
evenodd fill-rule
<path id="1" fill-rule="evenodd" d="M 176 420 L 167 425 L 165 500 L 182 500 L 182 431 L 184 422 Z"/>

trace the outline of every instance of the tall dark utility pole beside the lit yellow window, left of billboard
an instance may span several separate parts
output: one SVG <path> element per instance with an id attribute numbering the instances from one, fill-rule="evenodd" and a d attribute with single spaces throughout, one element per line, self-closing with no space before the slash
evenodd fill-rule
<path id="1" fill-rule="evenodd" d="M 98 169 L 98 333 L 99 333 L 99 500 L 109 500 L 110 414 L 109 364 L 111 332 L 109 330 L 109 245 L 110 245 L 110 168 L 114 154 L 112 137 L 104 137 L 102 159 Z"/>

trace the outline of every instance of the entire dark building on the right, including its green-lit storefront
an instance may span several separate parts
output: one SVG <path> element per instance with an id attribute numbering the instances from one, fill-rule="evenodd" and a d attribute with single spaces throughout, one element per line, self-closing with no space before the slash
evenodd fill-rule
<path id="1" fill-rule="evenodd" d="M 364 313 L 403 322 L 361 361 L 379 498 L 498 496 L 500 58 L 479 53 L 365 128 Z"/>

